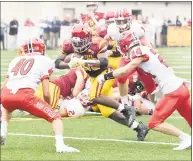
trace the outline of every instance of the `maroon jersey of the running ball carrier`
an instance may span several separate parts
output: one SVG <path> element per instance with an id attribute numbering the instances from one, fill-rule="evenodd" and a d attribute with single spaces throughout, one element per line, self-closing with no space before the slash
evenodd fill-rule
<path id="1" fill-rule="evenodd" d="M 101 37 L 93 36 L 90 48 L 81 53 L 85 60 L 98 60 L 97 56 L 100 53 L 107 51 L 108 43 Z M 100 67 L 84 67 L 85 71 L 91 76 L 96 77 L 105 69 Z"/>

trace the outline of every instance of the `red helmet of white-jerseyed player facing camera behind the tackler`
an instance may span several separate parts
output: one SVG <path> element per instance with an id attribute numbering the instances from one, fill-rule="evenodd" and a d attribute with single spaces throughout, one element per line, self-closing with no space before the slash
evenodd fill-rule
<path id="1" fill-rule="evenodd" d="M 120 32 L 129 30 L 132 23 L 132 15 L 127 9 L 119 10 L 115 13 L 115 23 L 119 27 Z"/>

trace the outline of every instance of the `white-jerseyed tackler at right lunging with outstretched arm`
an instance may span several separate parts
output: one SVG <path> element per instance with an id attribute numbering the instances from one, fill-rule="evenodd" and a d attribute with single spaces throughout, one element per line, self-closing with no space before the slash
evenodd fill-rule
<path id="1" fill-rule="evenodd" d="M 177 77 L 174 71 L 152 48 L 140 45 L 133 32 L 126 31 L 120 36 L 121 51 L 126 53 L 131 62 L 113 72 L 100 75 L 98 81 L 114 79 L 130 73 L 133 69 L 138 71 L 141 81 L 146 84 L 150 94 L 159 95 L 153 115 L 149 119 L 149 128 L 164 134 L 178 137 L 181 142 L 173 150 L 183 150 L 191 147 L 191 136 L 182 132 L 164 121 L 177 110 L 192 127 L 192 110 L 190 93 L 186 81 Z M 151 84 L 147 84 L 151 82 Z M 153 87 L 153 88 L 152 88 Z M 152 90 L 153 89 L 153 90 Z"/>

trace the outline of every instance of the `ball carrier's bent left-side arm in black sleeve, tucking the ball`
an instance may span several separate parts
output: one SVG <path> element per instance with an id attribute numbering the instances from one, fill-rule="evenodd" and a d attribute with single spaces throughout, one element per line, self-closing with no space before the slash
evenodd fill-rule
<path id="1" fill-rule="evenodd" d="M 55 60 L 55 67 L 57 68 L 57 69 L 69 69 L 70 67 L 69 67 L 69 65 L 68 65 L 68 63 L 66 63 L 65 61 L 64 61 L 64 59 L 65 59 L 65 57 L 66 57 L 67 55 L 66 54 L 61 54 L 61 55 L 59 55 L 57 58 L 56 58 L 56 60 Z"/>

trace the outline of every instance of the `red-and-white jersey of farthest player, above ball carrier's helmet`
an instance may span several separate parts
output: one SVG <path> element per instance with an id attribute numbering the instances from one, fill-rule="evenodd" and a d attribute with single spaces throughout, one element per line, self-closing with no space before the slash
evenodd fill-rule
<path id="1" fill-rule="evenodd" d="M 81 20 L 83 23 L 88 23 L 90 27 L 94 27 L 98 24 L 99 20 L 104 18 L 104 13 L 95 12 L 91 14 L 81 14 Z"/>

